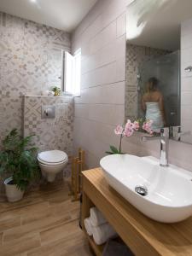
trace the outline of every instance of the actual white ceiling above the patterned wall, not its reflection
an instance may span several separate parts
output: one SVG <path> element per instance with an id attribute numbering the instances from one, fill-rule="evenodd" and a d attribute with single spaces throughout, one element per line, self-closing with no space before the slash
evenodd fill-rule
<path id="1" fill-rule="evenodd" d="M 97 0 L 0 0 L 0 11 L 73 32 Z"/>

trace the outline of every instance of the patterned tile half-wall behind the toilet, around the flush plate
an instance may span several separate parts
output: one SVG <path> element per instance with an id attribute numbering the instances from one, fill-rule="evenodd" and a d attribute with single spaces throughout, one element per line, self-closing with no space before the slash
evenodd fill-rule
<path id="1" fill-rule="evenodd" d="M 42 119 L 41 107 L 55 106 L 55 119 Z M 34 143 L 39 151 L 59 149 L 68 155 L 73 154 L 73 97 L 25 96 L 24 135 L 36 134 Z M 70 174 L 70 165 L 64 176 Z"/>

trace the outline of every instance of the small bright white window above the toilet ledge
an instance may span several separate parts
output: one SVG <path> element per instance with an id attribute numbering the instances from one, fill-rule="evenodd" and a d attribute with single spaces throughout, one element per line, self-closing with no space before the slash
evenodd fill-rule
<path id="1" fill-rule="evenodd" d="M 81 49 L 74 55 L 65 52 L 64 91 L 73 96 L 80 96 Z"/>

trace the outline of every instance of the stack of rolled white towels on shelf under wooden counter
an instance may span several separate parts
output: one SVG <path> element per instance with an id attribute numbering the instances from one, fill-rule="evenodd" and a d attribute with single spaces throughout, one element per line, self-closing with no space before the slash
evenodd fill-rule
<path id="1" fill-rule="evenodd" d="M 97 245 L 108 241 L 109 238 L 117 236 L 113 227 L 96 207 L 90 208 L 90 217 L 84 219 L 84 228 Z"/>

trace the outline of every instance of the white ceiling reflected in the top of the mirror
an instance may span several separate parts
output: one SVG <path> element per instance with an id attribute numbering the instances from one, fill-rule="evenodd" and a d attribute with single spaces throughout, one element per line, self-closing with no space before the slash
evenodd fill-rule
<path id="1" fill-rule="evenodd" d="M 192 0 L 135 0 L 127 7 L 130 44 L 179 49 L 180 26 L 192 19 Z"/>

